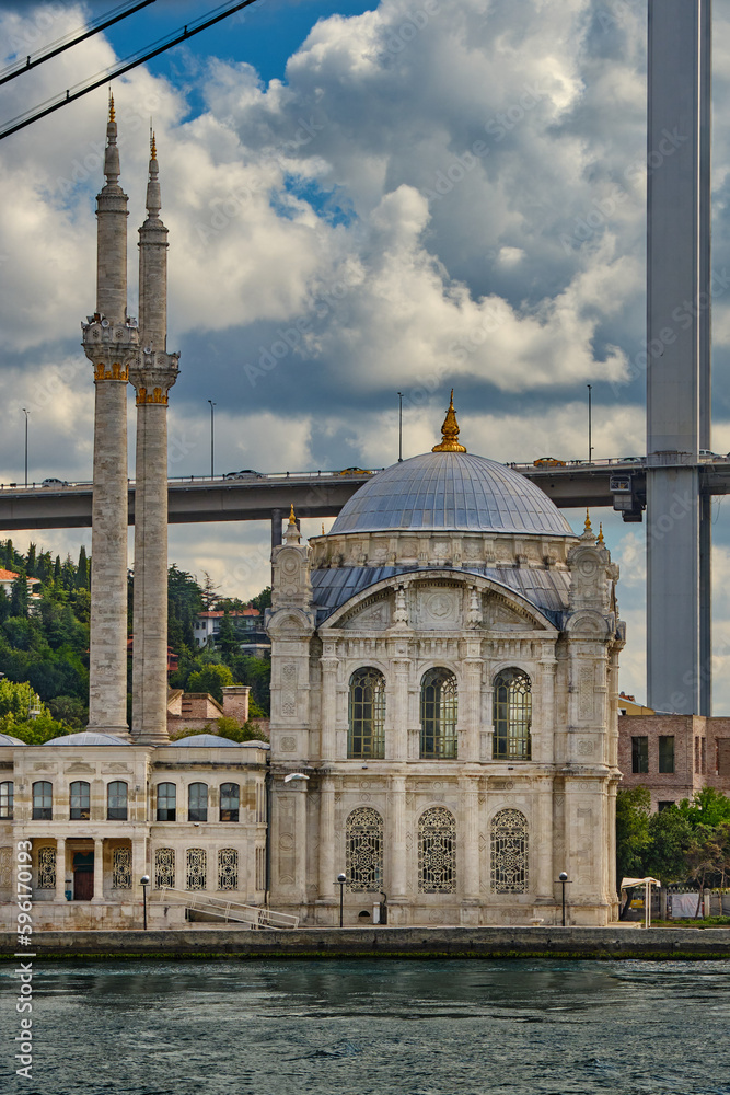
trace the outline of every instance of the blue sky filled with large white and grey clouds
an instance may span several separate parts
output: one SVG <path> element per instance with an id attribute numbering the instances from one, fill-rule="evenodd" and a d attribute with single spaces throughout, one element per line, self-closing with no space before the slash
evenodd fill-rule
<path id="1" fill-rule="evenodd" d="M 0 0 L 0 65 L 113 7 Z M 211 0 L 157 0 L 0 88 L 0 120 L 105 69 Z M 150 117 L 170 229 L 170 471 L 380 468 L 461 439 L 499 461 L 646 451 L 646 0 L 257 0 L 114 83 L 137 313 Z M 730 268 L 730 3 L 715 4 L 714 260 Z M 0 142 L 0 482 L 91 477 L 100 89 Z M 714 307 L 712 448 L 730 450 L 730 301 Z M 131 412 L 131 401 L 130 401 Z M 134 414 L 129 415 L 130 453 Z M 580 531 L 582 516 L 567 514 Z M 645 685 L 644 526 L 609 510 Z M 328 527 L 331 522 L 325 522 Z M 305 522 L 314 534 L 318 522 Z M 13 533 L 54 552 L 89 530 Z M 730 712 L 730 522 L 714 504 L 716 714 Z M 173 526 L 221 590 L 268 584 L 263 523 Z"/>

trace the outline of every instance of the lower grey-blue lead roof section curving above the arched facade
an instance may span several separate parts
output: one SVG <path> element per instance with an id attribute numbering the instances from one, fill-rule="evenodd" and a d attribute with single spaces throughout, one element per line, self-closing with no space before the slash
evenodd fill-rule
<path id="1" fill-rule="evenodd" d="M 528 566 L 462 566 L 457 574 L 475 574 L 489 578 L 520 593 L 540 609 L 556 627 L 568 609 L 570 575 L 565 570 L 538 569 Z M 452 579 L 449 567 L 433 566 L 341 566 L 312 572 L 312 592 L 317 609 L 317 625 L 369 586 L 397 574 L 443 574 Z"/>

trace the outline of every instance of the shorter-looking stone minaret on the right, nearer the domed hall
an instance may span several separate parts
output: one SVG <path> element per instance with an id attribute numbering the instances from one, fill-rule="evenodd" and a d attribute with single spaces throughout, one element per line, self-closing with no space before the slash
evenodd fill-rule
<path id="1" fill-rule="evenodd" d="M 132 737 L 162 745 L 167 736 L 167 392 L 179 354 L 167 354 L 167 229 L 160 220 L 154 135 L 147 184 L 148 217 L 139 230 L 141 350 L 129 379 L 137 390 Z"/>

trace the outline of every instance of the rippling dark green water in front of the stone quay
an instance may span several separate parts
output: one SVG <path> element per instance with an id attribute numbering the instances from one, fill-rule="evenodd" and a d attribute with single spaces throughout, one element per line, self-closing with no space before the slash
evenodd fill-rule
<path id="1" fill-rule="evenodd" d="M 727 975 L 721 961 L 40 964 L 28 1082 L 13 1074 L 3 965 L 0 1092 L 726 1095 Z"/>

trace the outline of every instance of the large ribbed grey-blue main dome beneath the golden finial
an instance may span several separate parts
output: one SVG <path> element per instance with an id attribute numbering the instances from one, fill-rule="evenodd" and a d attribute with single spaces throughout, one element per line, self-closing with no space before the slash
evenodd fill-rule
<path id="1" fill-rule="evenodd" d="M 470 452 L 424 452 L 379 472 L 346 503 L 328 534 L 417 529 L 575 535 L 531 480 Z"/>

